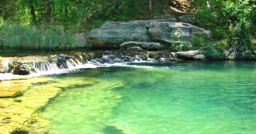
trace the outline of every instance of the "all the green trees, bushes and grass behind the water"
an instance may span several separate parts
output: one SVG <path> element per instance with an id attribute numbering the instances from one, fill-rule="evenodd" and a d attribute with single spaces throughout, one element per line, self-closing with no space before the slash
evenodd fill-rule
<path id="1" fill-rule="evenodd" d="M 1 47 L 75 48 L 73 34 L 106 21 L 151 19 L 170 6 L 195 16 L 213 40 L 171 44 L 173 51 L 202 49 L 207 58 L 250 59 L 256 50 L 256 0 L 1 0 Z M 90 45 L 89 45 L 90 46 Z"/>

